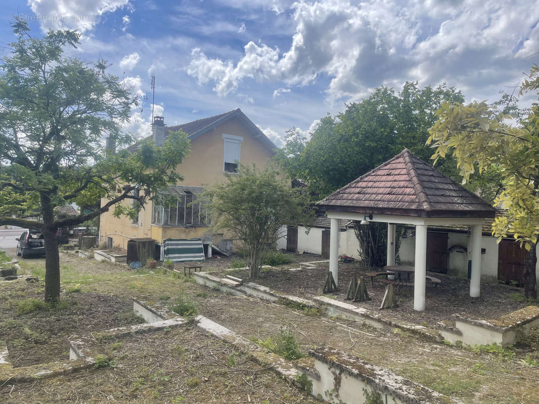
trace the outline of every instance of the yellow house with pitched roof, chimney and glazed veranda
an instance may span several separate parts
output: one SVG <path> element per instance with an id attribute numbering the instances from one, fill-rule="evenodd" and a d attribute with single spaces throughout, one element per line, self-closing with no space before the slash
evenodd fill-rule
<path id="1" fill-rule="evenodd" d="M 231 251 L 231 239 L 224 234 L 212 234 L 208 213 L 196 203 L 197 196 L 204 186 L 224 181 L 225 173 L 234 175 L 238 162 L 264 167 L 276 147 L 239 108 L 172 127 L 165 127 L 163 117 L 156 116 L 151 139 L 156 145 L 162 145 L 169 131 L 177 130 L 188 135 L 191 151 L 177 168 L 184 181 L 169 186 L 166 191 L 177 197 L 176 206 L 147 204 L 135 220 L 114 218 L 113 209 L 103 213 L 99 239 L 107 247 L 126 249 L 130 239 L 152 238 L 159 250 L 165 239 L 201 238 L 206 253 L 211 254 L 210 245 Z M 140 144 L 141 141 L 128 150 L 136 150 Z"/>

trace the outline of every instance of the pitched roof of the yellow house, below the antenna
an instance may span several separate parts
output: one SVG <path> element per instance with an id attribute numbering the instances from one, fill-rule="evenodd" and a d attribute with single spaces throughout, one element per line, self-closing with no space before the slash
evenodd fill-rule
<path id="1" fill-rule="evenodd" d="M 241 112 L 241 109 L 239 108 L 233 109 L 232 111 L 225 112 L 223 114 L 213 115 L 207 118 L 198 119 L 196 121 L 182 123 L 181 125 L 167 126 L 165 127 L 165 138 L 167 137 L 169 131 L 183 130 L 188 136 L 189 140 L 193 140 L 198 136 L 215 128 L 218 124 L 226 122 L 234 117 L 238 117 L 240 120 L 242 120 L 247 125 L 247 127 L 250 128 L 253 133 L 255 133 L 255 137 L 261 138 L 262 142 L 265 143 L 266 147 L 271 150 L 277 149 L 277 146 L 275 146 L 275 144 L 273 144 L 273 142 L 269 140 L 269 138 L 267 138 L 266 135 L 264 135 L 264 133 L 250 119 L 248 119 L 248 117 L 243 112 Z M 148 139 L 151 139 L 151 135 L 130 145 L 127 150 L 131 152 L 135 151 L 140 147 L 142 142 Z"/>

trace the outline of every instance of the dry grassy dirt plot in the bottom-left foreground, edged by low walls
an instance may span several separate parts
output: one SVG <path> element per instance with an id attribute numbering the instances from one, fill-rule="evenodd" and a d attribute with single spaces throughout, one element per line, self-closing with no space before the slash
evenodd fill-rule
<path id="1" fill-rule="evenodd" d="M 110 342 L 113 366 L 0 386 L 21 403 L 315 403 L 271 370 L 192 327 Z"/>

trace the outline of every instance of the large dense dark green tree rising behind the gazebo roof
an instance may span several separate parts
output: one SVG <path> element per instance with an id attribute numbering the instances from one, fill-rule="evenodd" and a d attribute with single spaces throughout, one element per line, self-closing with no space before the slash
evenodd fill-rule
<path id="1" fill-rule="evenodd" d="M 464 102 L 454 87 L 406 82 L 399 93 L 387 87 L 361 102 L 349 103 L 344 112 L 326 116 L 309 140 L 292 128 L 277 160 L 292 178 L 299 178 L 318 197 L 337 190 L 397 155 L 404 148 L 423 159 L 429 128 L 443 102 Z"/>

